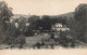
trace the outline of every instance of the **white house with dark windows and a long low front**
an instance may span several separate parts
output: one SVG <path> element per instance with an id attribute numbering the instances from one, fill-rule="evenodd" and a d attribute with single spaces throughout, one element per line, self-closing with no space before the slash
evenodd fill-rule
<path id="1" fill-rule="evenodd" d="M 66 27 L 66 25 L 62 25 L 60 23 L 55 23 L 54 25 L 52 25 L 52 30 L 57 30 L 57 31 L 70 31 L 70 28 Z"/>

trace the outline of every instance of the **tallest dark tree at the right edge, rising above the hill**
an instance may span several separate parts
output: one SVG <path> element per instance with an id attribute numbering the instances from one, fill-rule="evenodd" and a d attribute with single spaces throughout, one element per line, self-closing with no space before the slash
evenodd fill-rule
<path id="1" fill-rule="evenodd" d="M 76 36 L 83 42 L 87 42 L 87 4 L 79 4 L 75 10 L 75 19 L 77 22 Z"/>

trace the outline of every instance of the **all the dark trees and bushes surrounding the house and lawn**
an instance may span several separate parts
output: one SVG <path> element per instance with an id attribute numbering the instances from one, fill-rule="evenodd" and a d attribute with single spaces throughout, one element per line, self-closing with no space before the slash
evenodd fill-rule
<path id="1" fill-rule="evenodd" d="M 20 44 L 20 47 L 23 47 L 25 37 L 34 36 L 37 30 L 50 32 L 52 25 L 55 23 L 62 23 L 71 29 L 71 31 L 60 31 L 60 38 L 55 40 L 59 40 L 63 46 L 67 46 L 70 43 L 71 46 L 75 46 L 76 40 L 87 43 L 87 4 L 79 4 L 74 12 L 74 17 L 70 18 L 66 16 L 53 17 L 44 15 L 40 17 L 32 15 L 27 20 L 26 17 L 21 16 L 10 23 L 13 16 L 11 10 L 5 2 L 0 2 L 0 43 Z M 17 23 L 17 27 L 15 23 Z M 26 26 L 26 23 L 29 26 Z M 51 35 L 50 39 L 54 39 L 54 35 Z"/>

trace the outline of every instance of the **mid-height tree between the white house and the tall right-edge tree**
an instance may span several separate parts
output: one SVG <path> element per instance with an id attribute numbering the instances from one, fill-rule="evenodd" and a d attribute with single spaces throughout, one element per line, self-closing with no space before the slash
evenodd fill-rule
<path id="1" fill-rule="evenodd" d="M 66 25 L 71 29 L 70 33 L 74 38 L 76 38 L 76 30 L 78 29 L 77 24 L 78 24 L 78 22 L 76 22 L 76 19 L 74 17 L 66 19 Z"/>

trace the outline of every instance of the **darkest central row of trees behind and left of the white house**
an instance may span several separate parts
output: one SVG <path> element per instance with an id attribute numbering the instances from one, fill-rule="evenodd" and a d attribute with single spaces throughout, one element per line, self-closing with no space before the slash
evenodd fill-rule
<path id="1" fill-rule="evenodd" d="M 28 23 L 30 24 L 30 28 L 34 30 L 51 30 L 51 27 L 55 23 L 65 24 L 66 18 L 64 17 L 54 17 L 51 18 L 48 15 L 44 15 L 41 18 L 39 16 L 32 16 L 28 18 Z M 40 27 L 40 28 L 39 28 Z"/>

